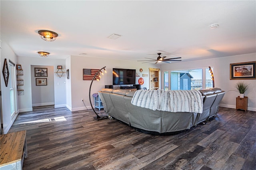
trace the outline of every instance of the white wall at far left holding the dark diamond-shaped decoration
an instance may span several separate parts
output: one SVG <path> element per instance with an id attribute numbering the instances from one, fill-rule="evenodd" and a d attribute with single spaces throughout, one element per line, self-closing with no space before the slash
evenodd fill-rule
<path id="1" fill-rule="evenodd" d="M 4 83 L 4 77 L 2 74 L 2 70 L 3 70 L 3 65 L 4 65 L 4 59 L 7 59 L 7 64 L 9 66 L 9 59 L 14 62 L 16 64 L 16 55 L 15 53 L 12 51 L 12 49 L 9 47 L 9 45 L 7 45 L 3 40 L 1 43 L 1 47 L 2 49 L 0 49 L 0 63 L 1 63 L 1 91 L 2 91 L 2 119 L 3 119 L 3 131 L 4 134 L 8 132 L 8 130 L 10 129 L 10 127 L 12 126 L 12 123 L 14 122 L 16 116 L 18 114 L 16 114 L 15 117 L 11 117 L 11 106 L 10 106 L 10 82 L 8 83 L 8 87 L 5 86 Z M 10 78 L 9 78 L 10 81 Z M 18 109 L 18 101 L 16 103 L 17 105 L 17 109 Z M 18 113 L 18 112 L 17 112 Z"/>

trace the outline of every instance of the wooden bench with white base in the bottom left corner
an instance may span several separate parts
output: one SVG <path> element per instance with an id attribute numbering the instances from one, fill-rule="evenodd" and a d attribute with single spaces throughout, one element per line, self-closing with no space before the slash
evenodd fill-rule
<path id="1" fill-rule="evenodd" d="M 23 160 L 28 157 L 26 130 L 0 135 L 0 169 L 22 170 Z"/>

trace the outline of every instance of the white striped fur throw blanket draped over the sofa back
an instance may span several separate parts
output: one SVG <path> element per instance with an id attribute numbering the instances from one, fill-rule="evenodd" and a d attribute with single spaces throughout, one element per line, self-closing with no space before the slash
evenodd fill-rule
<path id="1" fill-rule="evenodd" d="M 202 95 L 197 90 L 137 90 L 132 105 L 168 112 L 203 112 Z"/>

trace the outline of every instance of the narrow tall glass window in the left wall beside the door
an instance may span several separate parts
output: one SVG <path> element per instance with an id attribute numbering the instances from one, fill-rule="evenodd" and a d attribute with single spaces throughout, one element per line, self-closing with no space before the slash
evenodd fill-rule
<path id="1" fill-rule="evenodd" d="M 16 78 L 15 78 L 15 65 L 9 60 L 9 83 L 10 83 L 10 105 L 11 116 L 16 113 Z"/>

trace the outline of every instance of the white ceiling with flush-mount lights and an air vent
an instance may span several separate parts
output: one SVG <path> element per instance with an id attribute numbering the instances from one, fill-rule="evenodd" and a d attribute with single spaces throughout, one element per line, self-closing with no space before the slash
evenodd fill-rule
<path id="1" fill-rule="evenodd" d="M 0 1 L 1 39 L 18 56 L 182 61 L 256 53 L 256 1 Z M 210 29 L 211 24 L 219 24 Z M 42 40 L 38 30 L 59 34 Z M 120 34 L 116 40 L 111 34 Z M 148 55 L 156 54 L 156 55 Z M 176 62 L 176 61 L 175 61 Z"/>

